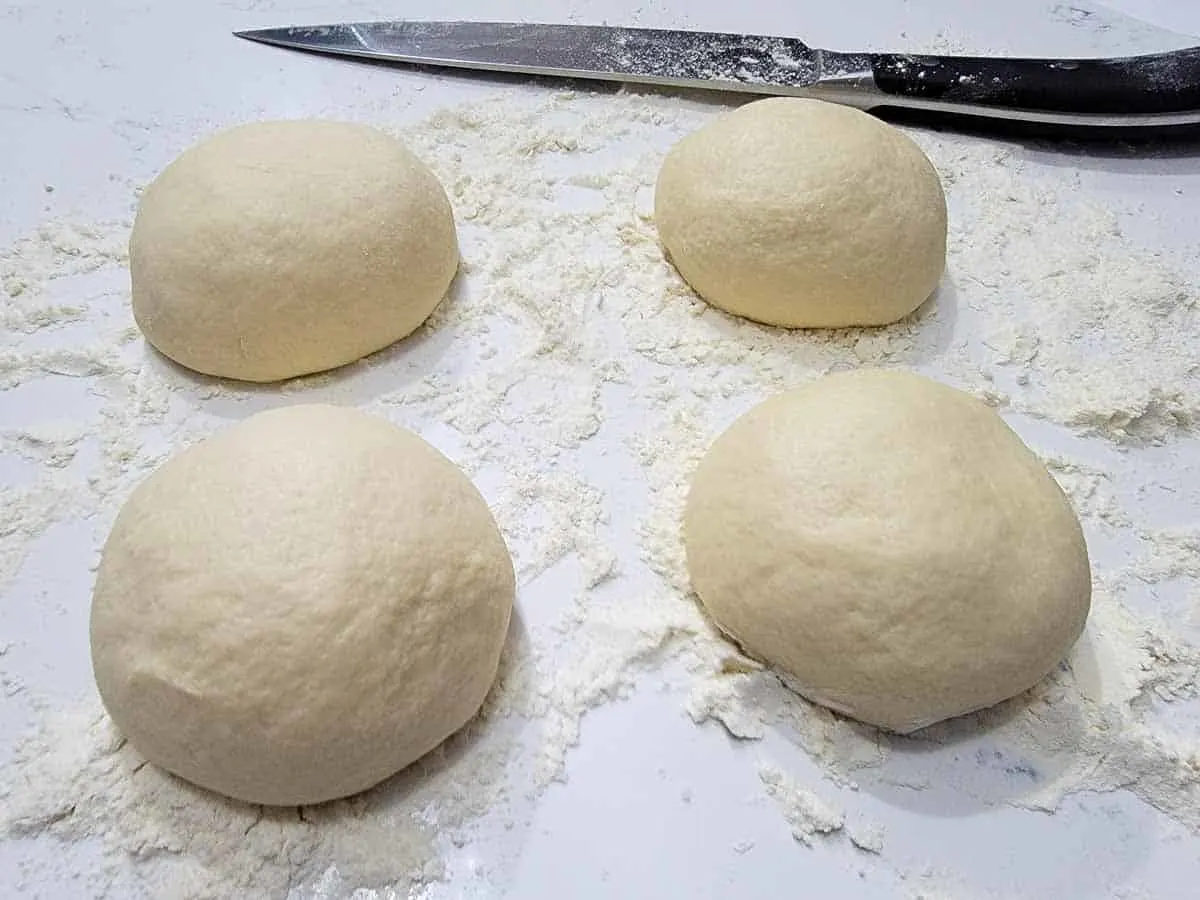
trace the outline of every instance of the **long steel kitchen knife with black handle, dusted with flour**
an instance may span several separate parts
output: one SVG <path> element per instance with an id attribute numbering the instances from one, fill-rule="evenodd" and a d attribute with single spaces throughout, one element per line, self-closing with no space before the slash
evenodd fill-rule
<path id="1" fill-rule="evenodd" d="M 1085 130 L 1200 124 L 1200 47 L 1106 59 L 836 53 L 793 37 L 502 22 L 362 22 L 235 31 L 335 56 L 815 97 Z"/>

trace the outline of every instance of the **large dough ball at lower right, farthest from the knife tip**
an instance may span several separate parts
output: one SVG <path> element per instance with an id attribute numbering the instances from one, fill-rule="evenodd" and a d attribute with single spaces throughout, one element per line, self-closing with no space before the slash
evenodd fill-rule
<path id="1" fill-rule="evenodd" d="M 1079 637 L 1079 521 L 1038 457 L 966 394 L 899 372 L 755 407 L 691 485 L 692 584 L 809 698 L 910 732 L 1015 696 Z"/>

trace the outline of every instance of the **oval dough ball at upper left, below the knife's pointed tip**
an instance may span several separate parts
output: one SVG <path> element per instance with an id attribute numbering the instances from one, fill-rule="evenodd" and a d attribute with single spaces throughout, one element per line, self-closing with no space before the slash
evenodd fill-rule
<path id="1" fill-rule="evenodd" d="M 142 194 L 133 316 L 206 374 L 274 382 L 334 368 L 414 331 L 458 244 L 445 191 L 364 125 L 244 125 L 186 151 Z"/>

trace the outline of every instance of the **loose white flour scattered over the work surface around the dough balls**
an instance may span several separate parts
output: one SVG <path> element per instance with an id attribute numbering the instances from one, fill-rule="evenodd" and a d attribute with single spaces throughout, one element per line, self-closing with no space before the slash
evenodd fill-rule
<path id="1" fill-rule="evenodd" d="M 0 389 L 68 394 L 78 406 L 26 403 L 34 415 L 0 422 L 0 458 L 22 473 L 0 497 L 5 602 L 52 527 L 80 526 L 89 545 L 62 564 L 94 565 L 120 502 L 168 454 L 300 401 L 355 404 L 443 448 L 496 510 L 521 580 L 481 719 L 398 779 L 304 820 L 226 803 L 152 767 L 134 774 L 140 761 L 94 698 L 66 715 L 37 710 L 20 668 L 35 638 L 18 640 L 0 654 L 0 684 L 17 685 L 41 727 L 6 763 L 0 833 L 98 841 L 90 895 L 419 892 L 479 821 L 512 824 L 516 798 L 565 780 L 588 710 L 629 696 L 647 670 L 698 726 L 802 748 L 830 797 L 856 784 L 946 781 L 992 805 L 1052 810 L 1070 792 L 1124 788 L 1200 830 L 1194 737 L 1159 714 L 1195 696 L 1200 659 L 1145 614 L 1139 588 L 1195 590 L 1194 526 L 1144 521 L 1124 467 L 1104 462 L 1134 464 L 1153 446 L 1168 484 L 1170 455 L 1194 446 L 1194 256 L 1139 248 L 1069 176 L 1028 166 L 1016 148 L 917 133 L 952 212 L 938 295 L 888 329 L 742 322 L 690 293 L 650 215 L 662 154 L 713 114 L 678 98 L 498 90 L 398 128 L 451 197 L 460 278 L 412 338 L 284 385 L 193 376 L 144 348 L 127 310 L 125 221 L 49 224 L 0 253 L 11 301 Z M 1096 611 L 1069 665 L 1024 697 L 910 738 L 808 703 L 722 640 L 690 594 L 679 535 L 690 473 L 724 427 L 773 392 L 864 365 L 920 370 L 1099 448 L 1044 456 L 1090 538 L 1103 528 L 1145 551 L 1098 557 Z M 986 793 L 953 756 L 968 739 L 1024 760 L 1014 767 L 1036 769 L 1038 790 Z M 914 745 L 928 752 L 898 752 Z M 877 826 L 780 767 L 761 781 L 802 842 L 844 833 L 887 858 Z"/>

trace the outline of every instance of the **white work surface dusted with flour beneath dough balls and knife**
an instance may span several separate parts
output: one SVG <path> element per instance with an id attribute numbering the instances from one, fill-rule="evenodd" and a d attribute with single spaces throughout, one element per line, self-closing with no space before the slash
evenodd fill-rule
<path id="1" fill-rule="evenodd" d="M 653 242 L 655 161 L 732 101 L 229 34 L 389 17 L 1043 55 L 1200 34 L 1192 0 L 0 0 L 0 895 L 1200 895 L 1200 144 L 914 131 L 949 197 L 938 295 L 880 332 L 776 332 L 697 304 Z M 464 258 L 446 308 L 288 385 L 172 366 L 131 330 L 137 191 L 216 128 L 299 116 L 396 131 L 439 174 Z M 695 454 L 768 394 L 853 365 L 992 402 L 1075 502 L 1097 576 L 1062 671 L 908 739 L 722 672 L 733 649 L 678 568 Z M 350 803 L 262 811 L 114 743 L 88 606 L 115 510 L 166 454 L 304 401 L 386 415 L 462 464 L 515 553 L 518 610 L 466 736 Z"/>

